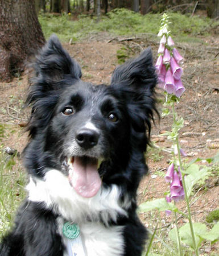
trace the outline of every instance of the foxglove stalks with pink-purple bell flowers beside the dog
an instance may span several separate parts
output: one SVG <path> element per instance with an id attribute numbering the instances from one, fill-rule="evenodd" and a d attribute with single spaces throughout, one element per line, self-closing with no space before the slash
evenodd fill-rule
<path id="1" fill-rule="evenodd" d="M 177 51 L 175 43 L 173 42 L 170 31 L 168 30 L 168 15 L 163 14 L 160 31 L 158 36 L 161 37 L 160 46 L 158 50 L 158 61 L 156 63 L 156 70 L 158 71 L 159 87 L 166 90 L 166 100 L 169 105 L 172 106 L 173 114 L 173 127 L 172 132 L 168 136 L 169 139 L 173 141 L 173 148 L 175 148 L 174 160 L 170 167 L 168 168 L 166 174 L 166 181 L 170 182 L 170 196 L 166 197 L 167 202 L 170 200 L 179 201 L 185 198 L 188 209 L 188 221 L 191 230 L 193 248 L 195 250 L 195 255 L 199 256 L 199 248 L 197 247 L 195 240 L 195 232 L 193 228 L 191 209 L 189 205 L 189 198 L 187 194 L 187 188 L 185 186 L 185 177 L 181 173 L 183 171 L 183 163 L 181 160 L 181 155 L 185 156 L 185 152 L 180 148 L 179 145 L 179 130 L 183 127 L 183 119 L 177 118 L 175 112 L 175 102 L 179 102 L 179 97 L 184 93 L 185 88 L 181 81 L 181 76 L 183 75 L 183 68 L 180 65 L 183 63 L 183 57 Z M 175 168 L 178 166 L 178 168 Z M 170 214 L 170 210 L 166 212 Z M 175 214 L 176 220 L 176 236 L 177 244 L 179 249 L 179 255 L 182 255 L 181 241 L 179 228 L 177 225 L 177 215 Z M 185 216 L 185 214 L 184 214 Z"/>

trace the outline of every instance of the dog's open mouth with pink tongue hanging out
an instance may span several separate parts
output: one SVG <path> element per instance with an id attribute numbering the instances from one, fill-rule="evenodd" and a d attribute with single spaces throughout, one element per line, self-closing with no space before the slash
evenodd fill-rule
<path id="1" fill-rule="evenodd" d="M 78 195 L 82 197 L 95 196 L 101 187 L 100 175 L 97 171 L 96 159 L 81 159 L 75 156 L 72 170 L 69 171 L 69 181 Z"/>

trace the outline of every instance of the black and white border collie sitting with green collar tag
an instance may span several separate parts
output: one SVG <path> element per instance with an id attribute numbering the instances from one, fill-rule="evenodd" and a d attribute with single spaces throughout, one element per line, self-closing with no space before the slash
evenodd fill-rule
<path id="1" fill-rule="evenodd" d="M 151 50 L 94 86 L 53 35 L 34 69 L 28 195 L 0 255 L 140 256 L 147 232 L 136 197 L 156 112 Z"/>

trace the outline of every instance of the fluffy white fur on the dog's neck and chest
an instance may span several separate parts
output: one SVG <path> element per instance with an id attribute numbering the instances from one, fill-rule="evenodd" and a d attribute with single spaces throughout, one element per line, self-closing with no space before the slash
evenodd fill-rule
<path id="1" fill-rule="evenodd" d="M 111 185 L 108 189 L 101 188 L 96 196 L 84 198 L 71 187 L 68 177 L 60 171 L 48 170 L 43 179 L 30 179 L 27 191 L 29 200 L 44 202 L 48 208 L 52 208 L 61 216 L 57 219 L 57 231 L 63 237 L 66 247 L 71 243 L 62 233 L 64 220 L 80 226 L 85 256 L 122 255 L 123 226 L 109 226 L 109 221 L 116 221 L 118 214 L 127 216 L 126 209 L 130 206 L 130 200 L 127 198 L 123 202 L 120 201 L 121 191 L 117 185 Z M 71 255 L 75 256 L 68 251 L 64 254 Z"/>

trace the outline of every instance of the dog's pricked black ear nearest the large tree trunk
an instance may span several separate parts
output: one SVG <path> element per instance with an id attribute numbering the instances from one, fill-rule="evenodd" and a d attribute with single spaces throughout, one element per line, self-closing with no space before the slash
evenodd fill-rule
<path id="1" fill-rule="evenodd" d="M 36 56 L 34 68 L 36 78 L 39 77 L 46 82 L 58 82 L 65 75 L 75 79 L 81 78 L 80 66 L 63 49 L 56 35 L 49 38 L 47 44 Z"/>

